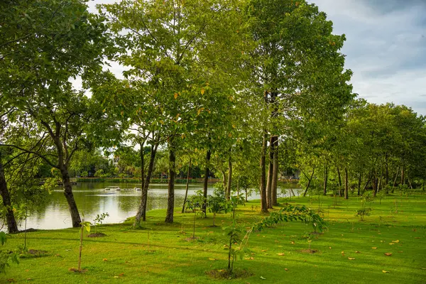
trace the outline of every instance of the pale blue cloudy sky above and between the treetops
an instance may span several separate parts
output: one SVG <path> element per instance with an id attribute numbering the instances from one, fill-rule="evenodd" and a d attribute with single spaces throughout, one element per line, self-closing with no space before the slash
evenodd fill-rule
<path id="1" fill-rule="evenodd" d="M 93 0 L 95 4 L 115 0 Z M 202 1 L 202 0 L 200 0 Z M 426 0 L 312 0 L 345 34 L 342 53 L 354 92 L 375 104 L 405 104 L 426 115 Z M 121 73 L 122 67 L 112 65 Z"/>

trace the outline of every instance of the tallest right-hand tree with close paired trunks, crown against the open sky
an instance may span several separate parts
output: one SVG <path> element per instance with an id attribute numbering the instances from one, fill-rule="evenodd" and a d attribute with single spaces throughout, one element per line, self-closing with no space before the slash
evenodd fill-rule
<path id="1" fill-rule="evenodd" d="M 344 55 L 339 53 L 344 35 L 332 35 L 332 22 L 314 4 L 252 0 L 246 11 L 257 43 L 251 68 L 258 86 L 252 92 L 270 116 L 259 116 L 262 211 L 266 212 L 276 195 L 272 197 L 278 179 L 277 136 L 291 137 L 297 124 L 314 116 L 326 120 L 341 114 L 353 97 L 346 83 L 351 72 L 344 70 Z M 266 179 L 268 141 L 271 170 Z"/>

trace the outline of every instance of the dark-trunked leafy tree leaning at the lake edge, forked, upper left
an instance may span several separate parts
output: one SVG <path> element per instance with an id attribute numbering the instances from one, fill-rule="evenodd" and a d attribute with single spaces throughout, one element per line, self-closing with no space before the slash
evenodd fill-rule
<path id="1" fill-rule="evenodd" d="M 91 15 L 78 0 L 6 1 L 0 9 L 6 17 L 0 44 L 1 94 L 16 109 L 11 121 L 31 128 L 31 138 L 38 137 L 33 146 L 45 147 L 33 151 L 11 146 L 60 170 L 72 226 L 80 226 L 68 170 L 84 140 L 89 121 L 83 116 L 89 111 L 87 98 L 72 90 L 70 78 L 89 79 L 85 71 L 99 70 L 107 47 L 103 18 Z"/>

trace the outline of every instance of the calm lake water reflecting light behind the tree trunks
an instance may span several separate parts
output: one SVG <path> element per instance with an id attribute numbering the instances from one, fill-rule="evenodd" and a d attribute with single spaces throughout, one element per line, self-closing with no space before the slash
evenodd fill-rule
<path id="1" fill-rule="evenodd" d="M 121 191 L 104 190 L 107 186 L 118 186 Z M 138 185 L 135 183 L 79 182 L 78 185 L 72 186 L 72 191 L 80 214 L 84 214 L 85 220 L 92 221 L 97 214 L 108 213 L 109 217 L 104 220 L 104 224 L 120 223 L 134 216 L 138 210 L 141 191 L 133 190 L 136 186 Z M 197 190 L 202 190 L 202 184 L 190 185 L 188 196 L 195 195 Z M 209 194 L 212 194 L 213 190 L 214 187 L 209 185 Z M 182 206 L 184 197 L 185 185 L 175 185 L 175 207 Z M 260 199 L 260 196 L 253 194 L 249 199 Z M 150 185 L 147 207 L 148 210 L 167 208 L 166 184 Z M 23 229 L 23 226 L 23 223 L 20 224 L 20 229 Z M 26 225 L 27 228 L 34 229 L 64 229 L 70 226 L 72 222 L 67 201 L 59 189 L 48 196 L 42 208 L 30 212 Z"/>

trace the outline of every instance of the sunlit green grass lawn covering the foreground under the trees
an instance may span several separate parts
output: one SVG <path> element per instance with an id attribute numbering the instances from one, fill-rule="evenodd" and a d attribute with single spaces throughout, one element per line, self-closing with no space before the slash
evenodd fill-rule
<path id="1" fill-rule="evenodd" d="M 12 264 L 6 275 L 0 275 L 0 283 L 426 283 L 426 195 L 422 192 L 367 204 L 373 210 L 364 222 L 355 217 L 361 207 L 358 197 L 340 199 L 337 205 L 334 197 L 291 202 L 312 209 L 320 204 L 329 231 L 315 235 L 311 249 L 317 252 L 303 251 L 308 243 L 302 236 L 312 231 L 310 225 L 285 223 L 256 232 L 249 239 L 252 253 L 234 265 L 252 273 L 246 278 L 217 280 L 206 275 L 227 266 L 222 228 L 209 227 L 211 214 L 198 218 L 200 239 L 186 241 L 192 234 L 193 215 L 180 214 L 177 208 L 171 226 L 163 222 L 165 210 L 148 212 L 145 229 L 133 230 L 131 222 L 101 226 L 99 231 L 106 237 L 84 239 L 82 267 L 87 272 L 82 274 L 68 271 L 77 267 L 78 229 L 28 233 L 28 249 L 48 255 L 21 258 L 18 266 Z M 258 221 L 259 209 L 258 201 L 239 208 L 239 222 L 249 226 Z M 229 223 L 229 215 L 217 217 L 217 224 Z M 5 249 L 21 244 L 23 234 L 12 235 Z"/>

